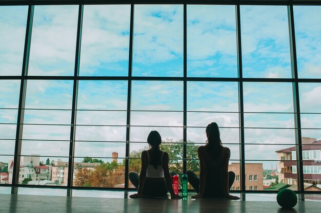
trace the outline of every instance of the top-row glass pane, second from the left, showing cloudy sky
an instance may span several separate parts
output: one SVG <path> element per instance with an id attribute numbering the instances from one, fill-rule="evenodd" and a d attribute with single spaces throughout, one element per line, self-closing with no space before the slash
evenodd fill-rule
<path id="1" fill-rule="evenodd" d="M 77 5 L 34 7 L 29 75 L 74 75 L 77 19 Z"/>

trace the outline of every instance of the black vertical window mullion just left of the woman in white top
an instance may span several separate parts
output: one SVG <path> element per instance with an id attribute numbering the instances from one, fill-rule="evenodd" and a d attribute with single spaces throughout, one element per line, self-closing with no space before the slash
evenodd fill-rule
<path id="1" fill-rule="evenodd" d="M 127 91 L 127 129 L 126 129 L 126 159 L 125 159 L 125 190 L 128 190 L 129 175 L 129 148 L 130 148 L 130 110 L 131 110 L 131 84 L 134 36 L 134 4 L 130 6 L 130 31 L 129 31 L 129 58 L 128 58 L 128 91 Z M 127 198 L 127 194 L 124 195 Z"/>

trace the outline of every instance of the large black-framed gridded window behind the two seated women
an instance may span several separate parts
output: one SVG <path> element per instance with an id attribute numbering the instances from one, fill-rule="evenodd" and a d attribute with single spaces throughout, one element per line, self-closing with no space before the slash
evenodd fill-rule
<path id="1" fill-rule="evenodd" d="M 320 6 L 52 3 L 0 6 L 1 185 L 132 188 L 152 130 L 199 174 L 216 122 L 233 190 L 321 190 Z"/>

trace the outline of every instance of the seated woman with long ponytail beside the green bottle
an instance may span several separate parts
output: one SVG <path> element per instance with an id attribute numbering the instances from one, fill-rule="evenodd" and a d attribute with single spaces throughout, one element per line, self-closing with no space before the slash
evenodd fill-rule
<path id="1" fill-rule="evenodd" d="M 226 197 L 239 199 L 230 195 L 230 188 L 235 174 L 228 172 L 230 149 L 224 147 L 219 137 L 218 125 L 213 122 L 206 127 L 207 144 L 199 146 L 197 153 L 200 163 L 199 178 L 188 171 L 189 183 L 196 190 L 197 195 L 192 198 Z"/>

